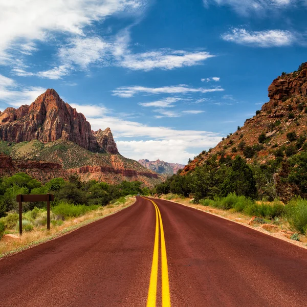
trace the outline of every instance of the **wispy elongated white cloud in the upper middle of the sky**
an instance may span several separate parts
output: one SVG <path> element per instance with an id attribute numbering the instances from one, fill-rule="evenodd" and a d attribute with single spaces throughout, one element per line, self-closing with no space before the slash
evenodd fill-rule
<path id="1" fill-rule="evenodd" d="M 155 68 L 171 70 L 185 66 L 199 65 L 214 55 L 208 52 L 187 52 L 182 50 L 160 49 L 158 51 L 127 54 L 119 65 L 132 69 L 149 71 Z"/>

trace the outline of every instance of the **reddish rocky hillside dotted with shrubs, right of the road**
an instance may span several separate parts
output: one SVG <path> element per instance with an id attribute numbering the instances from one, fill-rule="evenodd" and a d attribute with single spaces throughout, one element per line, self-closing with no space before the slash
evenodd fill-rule
<path id="1" fill-rule="evenodd" d="M 268 96 L 270 101 L 253 118 L 208 152 L 200 153 L 182 174 L 203 165 L 213 155 L 217 159 L 239 155 L 250 164 L 265 164 L 277 157 L 287 160 L 307 149 L 307 63 L 301 64 L 298 71 L 282 73 L 269 86 Z"/>

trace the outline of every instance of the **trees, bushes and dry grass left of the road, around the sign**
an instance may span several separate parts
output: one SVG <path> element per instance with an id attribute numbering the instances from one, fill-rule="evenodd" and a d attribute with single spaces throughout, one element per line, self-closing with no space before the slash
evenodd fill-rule
<path id="1" fill-rule="evenodd" d="M 46 202 L 23 203 L 23 236 L 19 234 L 18 194 L 54 194 L 51 203 L 51 229 L 47 230 Z M 79 223 L 91 222 L 134 202 L 133 195 L 148 195 L 141 182 L 123 181 L 109 185 L 95 180 L 81 182 L 71 175 L 68 181 L 55 178 L 41 184 L 26 173 L 0 178 L 0 255 L 36 240 L 46 238 Z M 13 236 L 5 240 L 5 234 Z M 15 237 L 14 237 L 15 235 Z M 17 240 L 18 238 L 18 240 Z M 9 242 L 7 242 L 7 240 Z M 6 242 L 4 242 L 6 241 Z"/>

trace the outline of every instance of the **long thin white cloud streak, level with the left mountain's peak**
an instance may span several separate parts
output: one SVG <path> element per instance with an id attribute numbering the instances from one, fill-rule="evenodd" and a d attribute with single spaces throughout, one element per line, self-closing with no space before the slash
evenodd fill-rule
<path id="1" fill-rule="evenodd" d="M 145 86 L 122 86 L 117 87 L 113 91 L 113 96 L 119 96 L 123 98 L 133 97 L 138 93 L 146 94 L 187 94 L 187 93 L 212 93 L 222 92 L 220 86 L 214 89 L 204 89 L 203 87 L 190 87 L 186 84 L 174 85 L 174 86 L 163 86 L 163 87 L 145 87 Z"/>

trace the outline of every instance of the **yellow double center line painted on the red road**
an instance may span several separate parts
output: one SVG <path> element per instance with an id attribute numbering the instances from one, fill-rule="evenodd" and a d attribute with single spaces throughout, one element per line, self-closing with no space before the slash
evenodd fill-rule
<path id="1" fill-rule="evenodd" d="M 162 278 L 162 307 L 170 307 L 170 295 L 169 295 L 169 282 L 168 282 L 168 269 L 167 269 L 167 257 L 166 247 L 164 239 L 163 223 L 160 210 L 155 202 L 150 201 L 156 209 L 156 233 L 155 233 L 155 245 L 153 247 L 152 265 L 150 273 L 150 282 L 147 297 L 147 307 L 156 307 L 157 297 L 157 283 L 158 283 L 158 253 L 159 253 L 159 222 L 161 231 L 161 278 Z"/>

